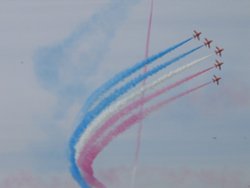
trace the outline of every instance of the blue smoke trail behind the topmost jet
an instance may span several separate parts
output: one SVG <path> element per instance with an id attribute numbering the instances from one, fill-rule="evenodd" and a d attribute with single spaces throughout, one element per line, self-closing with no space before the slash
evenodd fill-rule
<path id="1" fill-rule="evenodd" d="M 155 54 L 155 55 L 143 60 L 142 62 L 139 62 L 136 65 L 128 68 L 127 70 L 124 70 L 124 71 L 118 73 L 117 75 L 115 75 L 112 79 L 110 79 L 109 81 L 104 83 L 102 86 L 100 86 L 98 89 L 96 89 L 90 95 L 90 97 L 86 100 L 86 103 L 85 103 L 84 108 L 83 108 L 83 112 L 86 112 L 101 95 L 103 95 L 106 91 L 111 89 L 114 85 L 121 82 L 122 80 L 124 80 L 125 78 L 127 78 L 131 74 L 135 73 L 139 69 L 143 68 L 144 66 L 149 65 L 150 63 L 154 62 L 158 58 L 161 58 L 162 56 L 166 55 L 167 53 L 170 53 L 171 51 L 175 50 L 176 48 L 186 44 L 187 42 L 189 42 L 192 39 L 193 39 L 193 37 L 190 37 L 190 38 L 188 38 L 188 39 L 186 39 L 178 44 L 175 44 L 175 45 L 165 49 L 164 51 L 162 51 L 158 54 Z"/>

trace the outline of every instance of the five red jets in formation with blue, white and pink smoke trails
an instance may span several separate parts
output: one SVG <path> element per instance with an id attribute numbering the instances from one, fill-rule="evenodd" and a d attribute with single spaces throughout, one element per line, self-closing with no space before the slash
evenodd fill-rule
<path id="1" fill-rule="evenodd" d="M 153 105 L 150 103 L 151 106 L 147 105 L 141 110 L 138 110 L 142 105 L 146 105 L 148 102 L 175 89 L 176 87 L 181 87 L 182 84 L 185 84 L 186 82 L 190 82 L 195 78 L 198 79 L 199 76 L 212 71 L 214 68 L 221 70 L 223 62 L 216 59 L 214 64 L 211 64 L 210 66 L 204 64 L 204 69 L 171 83 L 171 78 L 175 75 L 181 74 L 197 64 L 201 64 L 214 55 L 220 58 L 224 49 L 216 47 L 215 54 L 208 54 L 199 59 L 195 59 L 188 64 L 161 74 L 161 76 L 155 78 L 153 81 L 149 80 L 147 83 L 140 85 L 145 79 L 157 75 L 157 73 L 170 67 L 170 65 L 176 64 L 185 57 L 198 52 L 201 48 L 211 48 L 212 40 L 205 38 L 202 45 L 198 45 L 184 53 L 180 53 L 164 63 L 160 64 L 157 62 L 158 59 L 164 58 L 164 56 L 174 50 L 178 50 L 185 44 L 190 43 L 193 39 L 197 39 L 198 41 L 201 40 L 201 34 L 201 32 L 194 30 L 192 37 L 178 42 L 177 44 L 142 60 L 126 70 L 119 72 L 89 96 L 83 108 L 83 118 L 70 140 L 71 173 L 82 188 L 106 187 L 104 183 L 95 177 L 93 163 L 98 154 L 118 135 L 122 134 L 127 129 L 142 121 L 146 116 L 159 110 L 163 106 L 166 106 L 170 102 L 174 102 L 181 97 L 210 85 L 211 83 L 219 85 L 221 77 L 213 75 L 212 79 L 209 81 L 202 82 L 201 80 L 202 83 L 200 85 L 195 85 L 192 88 L 184 90 L 183 92 L 163 101 L 155 104 L 153 103 Z M 149 64 L 152 68 L 140 72 L 140 70 Z M 166 80 L 169 80 L 170 84 L 162 86 L 159 89 L 159 86 L 163 85 Z M 147 94 L 144 94 L 146 91 Z"/>

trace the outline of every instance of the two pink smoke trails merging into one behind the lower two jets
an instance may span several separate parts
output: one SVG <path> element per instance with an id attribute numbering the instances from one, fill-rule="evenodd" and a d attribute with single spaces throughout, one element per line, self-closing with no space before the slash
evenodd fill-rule
<path id="1" fill-rule="evenodd" d="M 149 109 L 140 111 L 132 116 L 130 116 L 130 118 L 128 118 L 127 120 L 125 120 L 122 124 L 118 125 L 118 127 L 116 127 L 116 129 L 110 131 L 110 133 L 103 139 L 103 141 L 101 141 L 100 143 L 96 143 L 95 141 L 96 139 L 98 139 L 103 132 L 105 132 L 105 130 L 112 125 L 113 123 L 115 123 L 116 121 L 118 121 L 120 119 L 120 117 L 122 117 L 123 115 L 126 115 L 128 112 L 130 112 L 131 110 L 133 110 L 136 107 L 141 106 L 142 104 L 154 99 L 155 97 L 165 93 L 166 91 L 183 84 L 184 82 L 191 80 L 203 73 L 208 72 L 209 70 L 213 69 L 214 67 L 210 67 L 207 68 L 203 71 L 200 71 L 196 74 L 193 74 L 189 77 L 186 77 L 170 86 L 167 86 L 163 89 L 160 89 L 158 91 L 156 91 L 155 93 L 144 97 L 142 99 L 137 100 L 134 103 L 131 103 L 130 105 L 128 105 L 126 108 L 122 109 L 120 112 L 118 112 L 117 114 L 115 114 L 114 116 L 112 116 L 110 119 L 108 119 L 102 126 L 100 129 L 98 129 L 94 135 L 90 138 L 90 140 L 87 142 L 85 148 L 82 150 L 82 152 L 80 153 L 80 157 L 79 160 L 77 161 L 78 166 L 80 167 L 81 171 L 84 173 L 84 177 L 86 177 L 87 182 L 89 182 L 91 185 L 98 185 L 96 187 L 103 187 L 103 185 L 98 182 L 97 179 L 95 179 L 94 174 L 93 174 L 93 169 L 92 169 L 92 164 L 94 159 L 96 158 L 96 156 L 99 154 L 99 152 L 117 135 L 121 134 L 123 131 L 125 131 L 126 129 L 128 129 L 130 126 L 132 126 L 134 123 L 140 122 L 143 118 L 145 118 L 145 116 L 147 116 L 149 113 L 159 109 L 163 104 L 167 104 L 169 102 L 172 102 L 173 100 L 176 100 L 182 96 L 185 96 L 187 94 L 189 94 L 190 92 L 193 92 L 201 87 L 204 87 L 205 85 L 211 83 L 208 82 L 206 84 L 203 84 L 201 86 L 198 86 L 192 90 L 188 90 L 184 93 L 181 93 L 180 95 L 177 95 L 175 97 L 172 97 L 170 99 L 167 100 L 167 102 L 162 102 L 161 104 L 157 104 L 156 106 L 153 106 Z"/>

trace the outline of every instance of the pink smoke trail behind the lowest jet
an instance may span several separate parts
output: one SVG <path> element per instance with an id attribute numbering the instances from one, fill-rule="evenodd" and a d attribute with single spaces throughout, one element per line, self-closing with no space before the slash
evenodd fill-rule
<path id="1" fill-rule="evenodd" d="M 205 86 L 207 86 L 208 84 L 212 83 L 207 82 L 205 84 L 199 85 L 195 88 L 192 88 L 190 90 L 187 90 L 185 92 L 182 92 L 174 97 L 171 97 L 167 100 L 164 100 L 160 103 L 157 103 L 156 105 L 151 106 L 150 108 L 147 108 L 145 110 L 143 110 L 142 112 L 138 112 L 135 113 L 133 115 L 131 115 L 129 118 L 127 118 L 126 120 L 124 120 L 122 123 L 120 123 L 114 130 L 110 131 L 110 133 L 100 142 L 97 143 L 96 145 L 94 145 L 91 148 L 91 151 L 89 151 L 87 153 L 87 156 L 83 156 L 83 158 L 81 160 L 79 160 L 79 166 L 83 167 L 83 171 L 85 171 L 85 173 L 89 173 L 90 176 L 93 176 L 93 170 L 92 170 L 92 165 L 93 165 L 93 161 L 94 159 L 97 157 L 97 155 L 103 150 L 103 148 L 105 146 L 107 146 L 116 136 L 118 136 L 119 134 L 121 134 L 122 132 L 126 131 L 128 128 L 130 128 L 132 125 L 138 123 L 139 121 L 143 120 L 146 116 L 148 116 L 150 113 L 160 109 L 161 107 L 167 105 L 170 102 L 173 102 L 185 95 L 188 95 L 189 93 L 192 93 L 200 88 L 203 88 Z M 156 95 L 157 96 L 157 95 Z M 88 159 L 88 160 L 87 160 Z M 93 179 L 95 179 L 93 177 Z M 92 182 L 90 182 L 90 184 L 92 184 Z"/>

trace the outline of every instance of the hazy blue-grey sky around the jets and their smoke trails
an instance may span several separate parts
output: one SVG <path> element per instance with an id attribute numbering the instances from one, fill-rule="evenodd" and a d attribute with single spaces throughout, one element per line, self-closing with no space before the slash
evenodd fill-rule
<path id="1" fill-rule="evenodd" d="M 0 185 L 77 188 L 69 139 L 88 95 L 143 60 L 150 0 L 0 3 Z M 144 120 L 137 187 L 250 185 L 249 10 L 248 0 L 154 1 L 149 54 L 196 29 L 213 47 L 225 48 L 225 64 L 164 97 L 213 74 L 222 76 L 219 87 L 209 85 Z M 191 41 L 160 62 L 200 44 Z M 203 48 L 180 64 L 211 53 Z M 129 129 L 96 159 L 95 173 L 108 187 L 128 186 L 136 134 L 136 127 Z"/>

